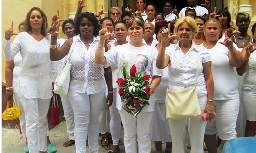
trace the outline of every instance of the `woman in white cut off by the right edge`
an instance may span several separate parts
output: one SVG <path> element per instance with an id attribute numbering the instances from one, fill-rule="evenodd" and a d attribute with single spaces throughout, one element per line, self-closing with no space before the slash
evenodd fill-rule
<path id="1" fill-rule="evenodd" d="M 256 38 L 256 23 L 252 26 L 252 36 Z M 255 41 L 255 40 L 254 40 Z M 244 58 L 243 67 L 237 68 L 238 75 L 242 76 L 245 72 L 242 91 L 242 104 L 246 116 L 245 136 L 255 136 L 256 128 L 256 43 L 249 43 L 243 48 L 242 55 Z"/>

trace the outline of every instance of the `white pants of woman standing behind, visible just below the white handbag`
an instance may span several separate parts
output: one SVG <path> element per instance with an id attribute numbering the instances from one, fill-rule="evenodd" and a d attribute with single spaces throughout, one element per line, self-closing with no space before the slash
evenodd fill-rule
<path id="1" fill-rule="evenodd" d="M 74 113 L 68 97 L 60 95 L 69 139 L 74 140 Z"/>

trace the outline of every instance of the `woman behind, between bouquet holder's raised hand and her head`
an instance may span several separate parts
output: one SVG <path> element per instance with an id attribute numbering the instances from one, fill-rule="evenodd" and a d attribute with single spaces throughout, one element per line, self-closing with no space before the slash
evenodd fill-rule
<path id="1" fill-rule="evenodd" d="M 128 43 L 126 41 L 126 37 L 128 35 L 128 27 L 126 24 L 126 21 L 116 21 L 114 25 L 114 34 L 116 38 L 116 42 L 113 44 L 108 44 L 108 50 L 118 46 L 118 45 L 123 45 Z M 120 148 L 119 145 L 122 144 L 120 139 L 121 136 L 121 117 L 117 109 L 117 102 L 116 102 L 116 96 L 117 96 L 117 83 L 116 80 L 118 78 L 118 71 L 119 67 L 117 66 L 111 66 L 112 70 L 112 82 L 113 82 L 113 103 L 112 106 L 109 107 L 109 112 L 110 112 L 110 131 L 112 135 L 112 140 L 113 140 L 113 146 L 112 150 L 109 151 L 108 153 L 117 153 Z"/>

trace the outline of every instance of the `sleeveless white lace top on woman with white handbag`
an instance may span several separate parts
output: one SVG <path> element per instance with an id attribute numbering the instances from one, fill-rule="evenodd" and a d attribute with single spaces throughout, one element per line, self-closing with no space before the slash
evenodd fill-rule
<path id="1" fill-rule="evenodd" d="M 80 40 L 80 34 L 75 37 L 77 37 L 76 45 L 70 58 L 72 67 L 69 89 L 88 95 L 98 93 L 106 86 L 104 68 L 94 61 L 99 39 L 94 37 L 87 50 L 85 44 Z"/>

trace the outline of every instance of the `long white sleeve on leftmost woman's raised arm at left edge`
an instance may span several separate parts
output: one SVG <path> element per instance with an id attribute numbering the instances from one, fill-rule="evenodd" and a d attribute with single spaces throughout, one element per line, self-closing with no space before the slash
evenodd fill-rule
<path id="1" fill-rule="evenodd" d="M 13 60 L 14 56 L 20 51 L 21 49 L 21 41 L 22 41 L 22 36 L 19 33 L 15 40 L 13 41 L 13 44 L 11 44 L 11 39 L 6 40 L 4 39 L 3 41 L 3 48 L 4 48 L 4 56 L 5 60 Z"/>

